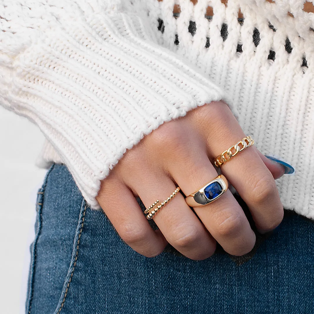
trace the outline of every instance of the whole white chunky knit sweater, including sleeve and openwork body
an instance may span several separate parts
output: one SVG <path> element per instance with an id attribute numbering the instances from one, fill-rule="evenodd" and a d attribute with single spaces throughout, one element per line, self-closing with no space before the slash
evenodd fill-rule
<path id="1" fill-rule="evenodd" d="M 295 167 L 285 208 L 314 219 L 314 14 L 276 0 L 0 0 L 0 103 L 35 122 L 93 208 L 143 136 L 225 100 Z"/>

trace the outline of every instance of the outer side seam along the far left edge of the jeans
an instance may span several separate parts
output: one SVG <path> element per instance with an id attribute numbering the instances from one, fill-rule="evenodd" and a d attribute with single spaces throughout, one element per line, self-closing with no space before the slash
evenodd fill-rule
<path id="1" fill-rule="evenodd" d="M 38 225 L 36 230 L 36 236 L 32 247 L 31 252 L 31 263 L 30 263 L 30 282 L 29 282 L 29 292 L 27 295 L 27 307 L 26 307 L 26 313 L 30 314 L 31 307 L 32 307 L 32 301 L 33 301 L 33 288 L 34 288 L 34 277 L 35 277 L 35 266 L 36 266 L 36 255 L 37 255 L 37 242 L 39 239 L 39 236 L 41 234 L 41 223 L 42 223 L 42 208 L 44 203 L 44 195 L 45 195 L 45 189 L 48 182 L 48 177 L 54 168 L 55 164 L 53 164 L 50 169 L 48 170 L 46 177 L 44 179 L 44 183 L 42 184 L 41 188 L 39 189 L 37 193 L 37 201 L 36 201 L 36 212 L 38 215 Z"/>

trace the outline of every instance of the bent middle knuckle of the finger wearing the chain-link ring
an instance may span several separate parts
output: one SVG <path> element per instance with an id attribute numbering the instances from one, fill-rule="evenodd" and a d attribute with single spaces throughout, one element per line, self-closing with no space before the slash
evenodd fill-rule
<path id="1" fill-rule="evenodd" d="M 264 203 L 265 200 L 273 197 L 273 195 L 276 193 L 276 190 L 276 183 L 270 175 L 267 174 L 261 176 L 252 184 L 252 200 L 257 204 Z"/>

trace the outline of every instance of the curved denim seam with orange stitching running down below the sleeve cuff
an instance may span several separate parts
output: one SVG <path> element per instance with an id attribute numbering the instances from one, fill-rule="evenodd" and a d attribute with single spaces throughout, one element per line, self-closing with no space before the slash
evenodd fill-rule
<path id="1" fill-rule="evenodd" d="M 85 204 L 85 206 L 84 206 Z M 83 213 L 82 213 L 82 209 L 84 208 L 83 210 Z M 69 290 L 69 286 L 70 286 L 70 283 L 72 281 L 72 278 L 73 278 L 73 274 L 74 274 L 74 270 L 75 270 L 75 266 L 76 266 L 76 263 L 77 263 L 77 259 L 78 259 L 78 249 L 79 249 L 79 243 L 80 243 L 80 239 L 81 239 L 81 234 L 82 234 L 82 231 L 83 231 L 83 227 L 84 227 L 84 220 L 85 220 L 85 213 L 86 213 L 86 208 L 87 208 L 87 204 L 86 204 L 86 201 L 85 199 L 83 199 L 83 202 L 82 202 L 82 206 L 81 206 L 81 210 L 80 210 L 80 217 L 78 219 L 78 226 L 77 226 L 77 231 L 76 231 L 76 236 L 74 238 L 74 245 L 73 245 L 73 252 L 72 252 L 72 258 L 71 258 L 71 263 L 70 263 L 70 268 L 68 270 L 68 275 L 67 275 L 67 278 L 65 280 L 65 283 L 63 285 L 63 289 L 62 289 L 62 294 L 61 294 L 61 298 L 58 302 L 58 305 L 57 305 L 57 309 L 55 311 L 55 314 L 60 314 L 63 306 L 64 306 L 64 302 L 65 302 L 65 299 L 68 295 L 68 290 Z M 79 229 L 79 230 L 78 230 Z M 75 252 L 75 253 L 74 253 Z M 63 297 L 62 297 L 63 295 Z M 62 301 L 61 301 L 62 300 Z M 60 304 L 61 303 L 61 304 Z"/>

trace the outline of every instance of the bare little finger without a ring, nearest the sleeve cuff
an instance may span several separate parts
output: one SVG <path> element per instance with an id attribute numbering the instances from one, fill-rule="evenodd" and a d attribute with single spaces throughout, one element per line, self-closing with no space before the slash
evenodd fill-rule
<path id="1" fill-rule="evenodd" d="M 108 176 L 97 196 L 101 208 L 122 240 L 136 252 L 154 257 L 168 244 L 160 231 L 154 231 L 145 218 L 133 193 L 120 180 Z"/>

